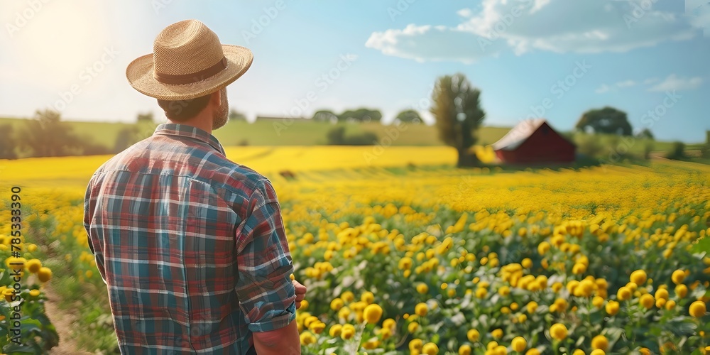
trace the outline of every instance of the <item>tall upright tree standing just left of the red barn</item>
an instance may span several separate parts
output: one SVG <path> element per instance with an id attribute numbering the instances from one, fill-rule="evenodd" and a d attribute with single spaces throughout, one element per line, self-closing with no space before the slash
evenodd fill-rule
<path id="1" fill-rule="evenodd" d="M 481 91 L 471 87 L 463 74 L 439 77 L 432 92 L 430 111 L 436 119 L 439 138 L 456 148 L 459 153 L 457 166 L 471 166 L 477 163 L 475 155 L 468 149 L 476 143 L 473 132 L 479 129 L 486 117 L 481 109 Z"/>

